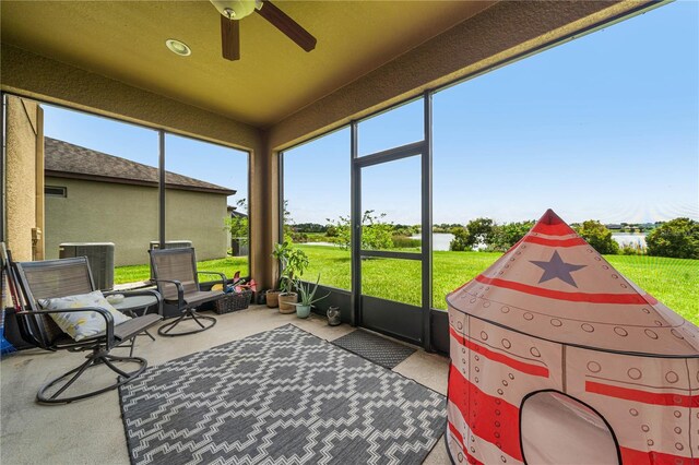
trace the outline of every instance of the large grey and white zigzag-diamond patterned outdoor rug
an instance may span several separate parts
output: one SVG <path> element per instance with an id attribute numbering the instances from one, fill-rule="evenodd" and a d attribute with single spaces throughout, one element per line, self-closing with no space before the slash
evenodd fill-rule
<path id="1" fill-rule="evenodd" d="M 419 464 L 442 395 L 294 325 L 150 367 L 120 388 L 133 464 Z"/>

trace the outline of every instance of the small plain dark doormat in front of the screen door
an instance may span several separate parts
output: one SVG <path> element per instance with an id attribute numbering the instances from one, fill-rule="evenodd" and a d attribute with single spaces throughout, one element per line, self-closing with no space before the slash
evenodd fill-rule
<path id="1" fill-rule="evenodd" d="M 414 348 L 362 330 L 331 342 L 389 370 L 415 353 Z"/>

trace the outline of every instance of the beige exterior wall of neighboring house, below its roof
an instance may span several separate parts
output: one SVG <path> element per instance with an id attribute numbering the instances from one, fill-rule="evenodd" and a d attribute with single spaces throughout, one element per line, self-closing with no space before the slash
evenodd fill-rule
<path id="1" fill-rule="evenodd" d="M 47 259 L 63 242 L 114 242 L 116 266 L 149 262 L 158 239 L 157 188 L 55 177 L 46 184 L 67 189 L 66 198 L 46 198 Z M 167 239 L 191 240 L 199 260 L 225 257 L 225 195 L 166 191 Z"/>

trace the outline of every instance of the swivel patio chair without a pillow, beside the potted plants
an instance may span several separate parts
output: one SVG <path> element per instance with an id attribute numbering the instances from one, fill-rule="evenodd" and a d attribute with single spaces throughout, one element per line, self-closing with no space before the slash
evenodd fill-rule
<path id="1" fill-rule="evenodd" d="M 153 249 L 151 254 L 151 271 L 163 296 L 164 314 L 179 317 L 162 325 L 157 332 L 162 336 L 183 336 L 200 333 L 213 327 L 216 319 L 197 313 L 202 303 L 224 298 L 221 290 L 201 290 L 200 274 L 215 274 L 221 276 L 223 287 L 226 286 L 226 275 L 220 272 L 197 271 L 197 257 L 193 248 L 186 249 Z M 186 321 L 197 323 L 199 327 L 189 331 L 171 333 L 178 324 Z"/>

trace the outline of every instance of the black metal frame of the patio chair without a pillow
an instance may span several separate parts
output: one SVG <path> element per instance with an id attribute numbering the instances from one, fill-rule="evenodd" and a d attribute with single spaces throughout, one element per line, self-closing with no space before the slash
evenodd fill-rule
<path id="1" fill-rule="evenodd" d="M 211 296 L 205 299 L 199 299 L 194 302 L 187 302 L 187 295 L 185 293 L 185 287 L 182 283 L 177 279 L 163 279 L 158 277 L 157 270 L 157 257 L 159 255 L 174 255 L 174 254 L 189 254 L 191 257 L 191 266 L 193 272 L 194 285 L 198 290 L 200 290 L 199 286 L 199 275 L 200 274 L 215 274 L 221 276 L 221 283 L 223 286 L 226 286 L 226 275 L 221 272 L 212 272 L 212 271 L 198 271 L 197 270 L 197 255 L 194 253 L 193 248 L 181 248 L 181 249 L 151 249 L 149 250 L 151 254 L 151 275 L 154 276 L 153 282 L 157 285 L 157 290 L 163 296 L 163 307 L 164 312 L 167 312 L 168 309 L 174 310 L 175 312 L 180 312 L 181 314 L 177 317 L 174 321 L 163 324 L 158 327 L 157 333 L 161 336 L 166 337 L 176 337 L 176 336 L 186 336 L 188 334 L 201 333 L 202 331 L 206 331 L 212 329 L 216 324 L 216 319 L 214 317 L 208 317 L 197 313 L 197 308 L 202 303 L 206 303 L 213 300 L 217 300 L 220 298 L 225 297 L 225 294 L 221 293 L 211 293 Z M 168 299 L 166 297 L 166 293 L 164 289 L 165 284 L 174 284 L 177 287 L 177 300 Z M 179 323 L 183 321 L 193 321 L 200 327 L 197 330 L 182 331 L 179 333 L 170 333 Z M 209 324 L 204 324 L 203 322 L 209 322 Z"/>

